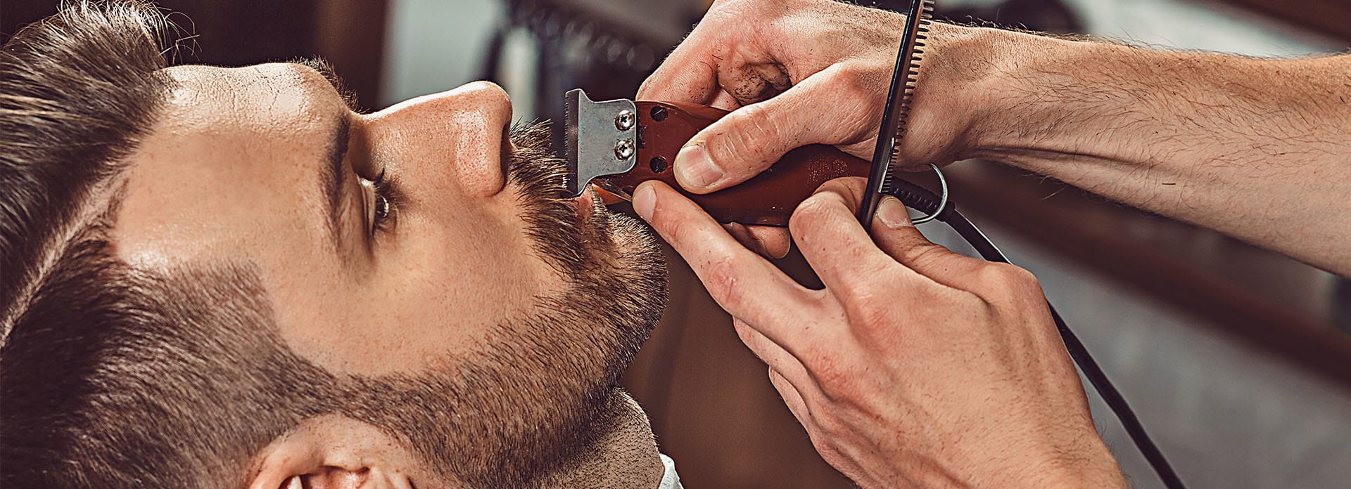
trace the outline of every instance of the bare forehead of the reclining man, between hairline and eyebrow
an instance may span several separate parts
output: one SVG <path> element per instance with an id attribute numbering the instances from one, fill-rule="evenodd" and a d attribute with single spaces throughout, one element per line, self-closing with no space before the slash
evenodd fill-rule
<path id="1" fill-rule="evenodd" d="M 290 63 L 166 73 L 176 86 L 130 158 L 115 227 L 122 258 L 170 265 L 307 244 L 319 222 L 301 211 L 322 201 L 304 190 L 343 111 L 331 85 Z"/>

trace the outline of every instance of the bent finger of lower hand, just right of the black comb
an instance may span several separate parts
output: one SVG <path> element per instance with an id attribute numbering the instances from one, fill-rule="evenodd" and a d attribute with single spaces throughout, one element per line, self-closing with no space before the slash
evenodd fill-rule
<path id="1" fill-rule="evenodd" d="M 892 196 L 882 197 L 873 219 L 873 240 L 884 253 L 911 270 L 935 282 L 969 290 L 989 262 L 954 253 L 924 238 L 911 224 L 905 204 Z"/>

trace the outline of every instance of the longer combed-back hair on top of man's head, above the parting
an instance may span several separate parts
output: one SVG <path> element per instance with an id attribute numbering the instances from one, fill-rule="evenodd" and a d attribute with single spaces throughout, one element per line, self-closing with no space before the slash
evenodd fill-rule
<path id="1" fill-rule="evenodd" d="M 163 24 L 146 4 L 81 1 L 0 47 L 0 334 L 154 123 Z"/>

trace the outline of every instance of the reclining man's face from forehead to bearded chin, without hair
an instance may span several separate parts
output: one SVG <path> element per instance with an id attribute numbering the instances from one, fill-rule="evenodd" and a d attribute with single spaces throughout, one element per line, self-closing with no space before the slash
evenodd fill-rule
<path id="1" fill-rule="evenodd" d="M 415 444 L 470 436 L 492 458 L 563 436 L 665 304 L 648 235 L 590 193 L 561 199 L 543 132 L 509 138 L 496 85 L 357 115 L 300 65 L 169 72 L 178 88 L 131 157 L 118 253 L 251 261 L 292 350 L 339 377 L 432 386 L 361 416 L 462 423 L 399 434 Z"/>

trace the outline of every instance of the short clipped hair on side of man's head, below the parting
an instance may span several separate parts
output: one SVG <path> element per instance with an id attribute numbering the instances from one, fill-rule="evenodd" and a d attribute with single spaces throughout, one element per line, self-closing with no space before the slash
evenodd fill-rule
<path id="1" fill-rule="evenodd" d="M 238 488 L 336 380 L 276 334 L 247 266 L 134 270 L 103 224 L 68 247 L 0 353 L 0 485 Z"/>

